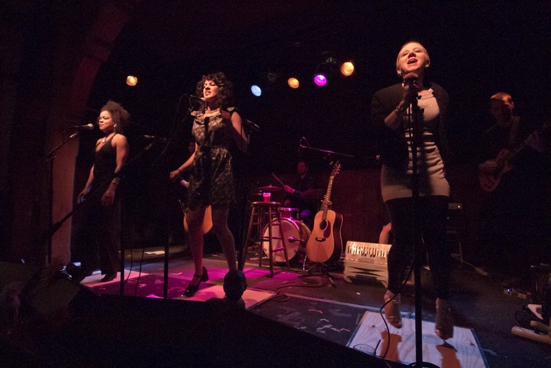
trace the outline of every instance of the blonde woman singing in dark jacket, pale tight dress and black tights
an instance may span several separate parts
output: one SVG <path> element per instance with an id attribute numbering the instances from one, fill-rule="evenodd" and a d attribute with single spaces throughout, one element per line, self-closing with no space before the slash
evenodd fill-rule
<path id="1" fill-rule="evenodd" d="M 412 112 L 410 99 L 415 96 L 418 97 L 419 108 L 423 109 L 419 114 L 422 143 L 417 151 L 417 224 L 428 252 L 428 265 L 435 284 L 436 334 L 446 340 L 453 336 L 453 320 L 448 305 L 450 248 L 446 241 L 450 186 L 444 176 L 448 94 L 435 83 L 424 83 L 424 72 L 429 65 L 430 58 L 423 45 L 417 42 L 403 45 L 396 60 L 396 72 L 402 83 L 375 93 L 371 112 L 380 134 L 382 197 L 391 217 L 394 238 L 388 252 L 385 317 L 394 327 L 402 327 L 399 292 L 406 268 L 413 259 L 413 156 L 409 144 L 412 127 L 408 122 Z"/>

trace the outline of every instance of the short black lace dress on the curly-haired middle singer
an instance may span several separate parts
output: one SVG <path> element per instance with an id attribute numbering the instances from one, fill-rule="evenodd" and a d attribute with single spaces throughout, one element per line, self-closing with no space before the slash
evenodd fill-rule
<path id="1" fill-rule="evenodd" d="M 227 110 L 235 112 L 234 108 Z M 233 125 L 229 119 L 222 119 L 220 110 L 191 114 L 195 117 L 191 132 L 198 148 L 189 177 L 189 208 L 231 205 L 235 202 L 235 187 L 228 147 Z"/>

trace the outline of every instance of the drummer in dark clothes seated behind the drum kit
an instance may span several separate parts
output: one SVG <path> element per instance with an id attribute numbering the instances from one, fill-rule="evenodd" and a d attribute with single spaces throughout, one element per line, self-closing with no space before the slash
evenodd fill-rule
<path id="1" fill-rule="evenodd" d="M 318 203 L 312 198 L 305 198 L 302 193 L 306 190 L 316 189 L 315 178 L 309 172 L 309 165 L 306 161 L 299 161 L 297 164 L 297 178 L 293 186 L 284 185 L 283 189 L 287 192 L 283 202 L 285 207 L 297 208 L 299 220 L 309 229 L 313 227 L 313 219 L 318 210 Z"/>

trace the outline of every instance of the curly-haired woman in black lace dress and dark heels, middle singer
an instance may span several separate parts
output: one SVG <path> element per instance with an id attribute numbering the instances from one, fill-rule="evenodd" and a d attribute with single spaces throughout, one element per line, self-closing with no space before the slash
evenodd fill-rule
<path id="1" fill-rule="evenodd" d="M 196 150 L 183 165 L 170 173 L 170 178 L 176 178 L 184 170 L 190 170 L 185 218 L 195 273 L 185 296 L 193 296 L 200 283 L 209 279 L 207 269 L 202 266 L 202 222 L 209 205 L 212 231 L 222 245 L 228 268 L 237 269 L 236 245 L 228 227 L 229 207 L 236 200 L 229 145 L 233 140 L 241 151 L 247 150 L 241 117 L 235 108 L 229 106 L 231 83 L 226 76 L 221 72 L 203 76 L 197 83 L 196 95 L 204 98 L 200 109 L 191 112 L 195 118 L 191 132 Z"/>

